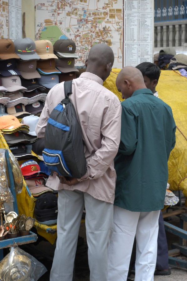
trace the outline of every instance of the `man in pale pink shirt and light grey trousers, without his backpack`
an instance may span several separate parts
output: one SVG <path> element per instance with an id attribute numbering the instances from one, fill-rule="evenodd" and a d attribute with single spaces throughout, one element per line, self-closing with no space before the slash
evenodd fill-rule
<path id="1" fill-rule="evenodd" d="M 103 87 L 113 62 L 114 54 L 108 45 L 94 45 L 86 72 L 72 83 L 70 100 L 82 129 L 87 172 L 81 179 L 69 180 L 59 180 L 53 173 L 47 181 L 47 186 L 58 190 L 57 243 L 50 281 L 72 280 L 84 207 L 90 281 L 107 281 L 107 246 L 113 229 L 116 181 L 113 159 L 121 132 L 121 104 L 114 93 Z M 64 97 L 63 82 L 48 93 L 36 126 L 39 138 L 44 138 L 50 112 Z"/>

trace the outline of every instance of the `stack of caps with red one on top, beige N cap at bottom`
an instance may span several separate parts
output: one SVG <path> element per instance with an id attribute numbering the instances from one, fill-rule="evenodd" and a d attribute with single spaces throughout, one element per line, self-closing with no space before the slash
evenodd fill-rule
<path id="1" fill-rule="evenodd" d="M 53 190 L 45 186 L 45 178 L 48 175 L 41 171 L 40 166 L 34 160 L 28 160 L 20 165 L 22 175 L 26 184 L 34 197 L 46 192 L 53 192 Z"/>

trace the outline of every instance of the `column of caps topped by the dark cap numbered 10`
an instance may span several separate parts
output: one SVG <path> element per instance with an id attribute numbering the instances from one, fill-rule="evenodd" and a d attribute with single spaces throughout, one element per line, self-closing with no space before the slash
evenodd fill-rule
<path id="1" fill-rule="evenodd" d="M 59 81 L 69 81 L 76 78 L 76 72 L 79 72 L 77 68 L 74 67 L 75 59 L 78 55 L 75 54 L 76 45 L 73 40 L 70 39 L 59 39 L 55 42 L 54 53 L 57 55 L 55 59 L 56 68 L 61 71 L 59 74 Z"/>

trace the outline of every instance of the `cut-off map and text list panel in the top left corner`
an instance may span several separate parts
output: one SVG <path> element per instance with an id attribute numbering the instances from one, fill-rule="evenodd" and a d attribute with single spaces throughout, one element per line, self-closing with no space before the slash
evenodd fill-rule
<path id="1" fill-rule="evenodd" d="M 22 0 L 0 0 L 0 38 L 22 38 Z"/>

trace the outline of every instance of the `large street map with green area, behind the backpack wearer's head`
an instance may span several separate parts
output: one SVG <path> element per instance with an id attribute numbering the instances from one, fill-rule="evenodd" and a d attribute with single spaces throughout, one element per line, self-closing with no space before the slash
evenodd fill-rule
<path id="1" fill-rule="evenodd" d="M 73 40 L 80 67 L 94 44 L 106 43 L 114 52 L 113 67 L 123 67 L 123 1 L 35 0 L 35 7 L 36 40 Z"/>

